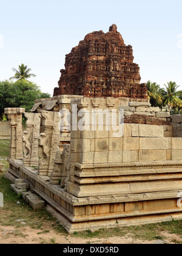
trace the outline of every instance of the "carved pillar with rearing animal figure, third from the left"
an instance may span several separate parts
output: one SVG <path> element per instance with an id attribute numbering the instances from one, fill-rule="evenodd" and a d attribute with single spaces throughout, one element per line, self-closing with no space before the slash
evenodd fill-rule
<path id="1" fill-rule="evenodd" d="M 40 176 L 50 176 L 54 168 L 56 152 L 59 150 L 60 131 L 59 112 L 41 111 L 41 134 L 39 135 L 39 168 Z"/>

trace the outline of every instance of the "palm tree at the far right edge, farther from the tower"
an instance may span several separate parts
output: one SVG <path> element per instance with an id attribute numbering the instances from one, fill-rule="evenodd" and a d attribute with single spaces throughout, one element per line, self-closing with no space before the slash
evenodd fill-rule
<path id="1" fill-rule="evenodd" d="M 170 113 L 170 107 L 182 107 L 182 101 L 179 98 L 179 91 L 177 90 L 180 86 L 171 81 L 164 86 L 166 87 L 166 91 L 164 91 L 164 105 L 168 105 Z"/>

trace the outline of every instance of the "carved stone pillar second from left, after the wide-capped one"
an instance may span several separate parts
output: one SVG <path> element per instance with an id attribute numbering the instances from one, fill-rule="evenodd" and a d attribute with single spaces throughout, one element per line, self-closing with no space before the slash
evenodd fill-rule
<path id="1" fill-rule="evenodd" d="M 41 124 L 41 114 L 24 113 L 27 118 L 27 129 L 23 135 L 24 166 L 38 166 L 38 137 Z"/>

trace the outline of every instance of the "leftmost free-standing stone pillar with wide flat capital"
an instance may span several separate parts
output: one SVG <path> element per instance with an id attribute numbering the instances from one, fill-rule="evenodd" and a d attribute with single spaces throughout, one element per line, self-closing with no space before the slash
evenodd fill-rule
<path id="1" fill-rule="evenodd" d="M 22 153 L 22 114 L 25 108 L 5 108 L 11 126 L 10 158 L 23 159 Z"/>

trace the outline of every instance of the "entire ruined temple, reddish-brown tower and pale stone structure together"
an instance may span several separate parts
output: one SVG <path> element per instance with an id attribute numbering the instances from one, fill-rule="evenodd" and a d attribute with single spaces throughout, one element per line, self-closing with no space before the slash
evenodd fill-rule
<path id="1" fill-rule="evenodd" d="M 182 115 L 151 107 L 140 80 L 132 46 L 112 25 L 66 56 L 53 98 L 32 113 L 5 108 L 5 177 L 69 233 L 182 219 Z"/>

